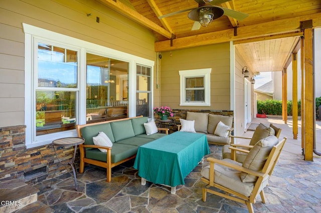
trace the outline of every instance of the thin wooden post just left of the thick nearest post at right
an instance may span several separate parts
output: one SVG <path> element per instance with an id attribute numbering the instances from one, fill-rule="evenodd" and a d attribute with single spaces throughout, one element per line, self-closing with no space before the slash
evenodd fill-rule
<path id="1" fill-rule="evenodd" d="M 301 148 L 304 154 L 304 41 L 301 39 Z"/>

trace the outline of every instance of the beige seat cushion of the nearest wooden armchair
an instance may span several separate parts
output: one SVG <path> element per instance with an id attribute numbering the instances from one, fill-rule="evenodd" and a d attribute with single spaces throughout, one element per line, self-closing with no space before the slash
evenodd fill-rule
<path id="1" fill-rule="evenodd" d="M 236 162 L 231 159 L 223 159 L 233 164 L 242 165 L 239 162 Z M 254 182 L 242 182 L 240 179 L 240 171 L 229 168 L 224 165 L 214 164 L 214 182 L 217 184 L 223 185 L 227 188 L 230 188 L 233 191 L 236 191 L 245 196 L 249 196 L 252 193 Z M 210 179 L 210 166 L 206 166 L 202 169 L 201 175 L 207 179 Z M 267 175 L 268 176 L 268 175 Z"/>

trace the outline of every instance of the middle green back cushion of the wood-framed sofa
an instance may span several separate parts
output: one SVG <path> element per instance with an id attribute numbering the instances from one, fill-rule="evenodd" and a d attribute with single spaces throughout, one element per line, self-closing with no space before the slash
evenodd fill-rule
<path id="1" fill-rule="evenodd" d="M 110 123 L 115 141 L 135 136 L 131 120 L 120 120 Z"/>

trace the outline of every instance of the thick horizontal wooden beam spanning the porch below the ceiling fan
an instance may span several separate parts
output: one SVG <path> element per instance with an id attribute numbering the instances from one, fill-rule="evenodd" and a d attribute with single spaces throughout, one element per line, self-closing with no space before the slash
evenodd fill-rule
<path id="1" fill-rule="evenodd" d="M 274 20 L 265 23 L 241 26 L 237 29 L 237 35 L 234 36 L 234 29 L 225 29 L 216 32 L 209 32 L 199 35 L 187 36 L 171 40 L 155 42 L 155 51 L 169 51 L 201 45 L 229 42 L 250 39 L 260 36 L 270 36 L 280 33 L 300 32 L 300 21 L 312 19 L 313 27 L 321 26 L 321 12 L 303 15 L 298 17 Z"/>

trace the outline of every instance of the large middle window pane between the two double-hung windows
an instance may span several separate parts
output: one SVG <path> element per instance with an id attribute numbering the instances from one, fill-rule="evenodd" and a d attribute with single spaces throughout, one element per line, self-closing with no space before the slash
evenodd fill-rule
<path id="1" fill-rule="evenodd" d="M 128 62 L 91 53 L 86 57 L 87 123 L 127 117 Z"/>

